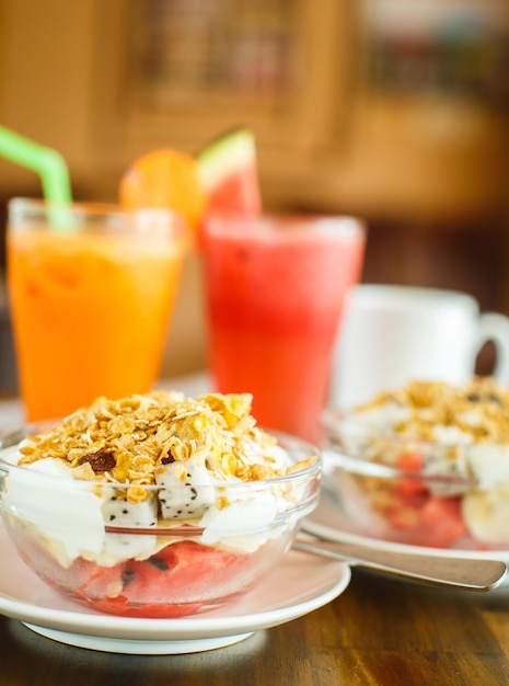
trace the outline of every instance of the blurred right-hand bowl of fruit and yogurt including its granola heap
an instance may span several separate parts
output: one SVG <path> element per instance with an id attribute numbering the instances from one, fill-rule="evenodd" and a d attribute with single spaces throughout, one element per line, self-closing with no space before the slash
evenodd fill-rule
<path id="1" fill-rule="evenodd" d="M 509 390 L 414 381 L 325 423 L 335 488 L 365 533 L 509 549 Z"/>

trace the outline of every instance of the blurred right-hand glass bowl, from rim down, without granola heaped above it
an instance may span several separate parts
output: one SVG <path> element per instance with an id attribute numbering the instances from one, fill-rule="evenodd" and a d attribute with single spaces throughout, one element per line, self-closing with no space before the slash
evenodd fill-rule
<path id="1" fill-rule="evenodd" d="M 334 410 L 323 420 L 324 485 L 356 530 L 416 546 L 509 550 L 509 445 L 377 433 Z"/>

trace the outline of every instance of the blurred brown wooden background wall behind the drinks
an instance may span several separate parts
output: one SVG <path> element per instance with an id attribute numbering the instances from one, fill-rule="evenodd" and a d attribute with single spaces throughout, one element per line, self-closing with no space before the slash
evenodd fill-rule
<path id="1" fill-rule="evenodd" d="M 367 219 L 363 281 L 507 313 L 508 73 L 505 0 L 0 0 L 0 124 L 58 149 L 77 198 L 245 124 L 267 208 Z M 0 160 L 2 225 L 13 195 L 38 180 Z M 164 375 L 206 364 L 200 287 L 190 258 Z"/>

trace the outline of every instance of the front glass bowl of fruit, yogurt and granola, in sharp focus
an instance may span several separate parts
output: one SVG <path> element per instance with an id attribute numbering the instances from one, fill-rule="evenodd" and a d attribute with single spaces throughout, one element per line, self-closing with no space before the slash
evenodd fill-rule
<path id="1" fill-rule="evenodd" d="M 2 512 L 21 556 L 116 615 L 188 615 L 252 587 L 313 508 L 320 459 L 257 427 L 251 401 L 100 398 L 3 447 Z"/>

